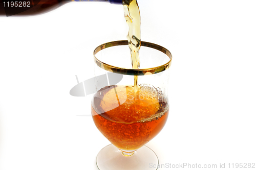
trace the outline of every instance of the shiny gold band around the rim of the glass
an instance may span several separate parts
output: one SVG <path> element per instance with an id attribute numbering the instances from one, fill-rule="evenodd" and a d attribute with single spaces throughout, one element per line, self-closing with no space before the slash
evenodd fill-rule
<path id="1" fill-rule="evenodd" d="M 112 41 L 112 42 L 107 42 L 104 44 L 99 45 L 98 47 L 95 48 L 94 50 L 94 62 L 102 69 L 105 69 L 107 71 L 110 72 L 115 72 L 117 74 L 122 74 L 122 75 L 133 75 L 133 76 L 144 76 L 144 75 L 153 75 L 153 74 L 157 74 L 159 72 L 162 72 L 166 69 L 168 69 L 170 67 L 170 64 L 172 64 L 172 54 L 170 54 L 170 52 L 157 44 L 151 43 L 151 42 L 144 42 L 141 41 L 141 46 L 146 46 L 146 47 L 151 47 L 154 48 L 162 53 L 164 53 L 165 55 L 167 55 L 169 57 L 169 61 L 163 65 L 160 65 L 158 67 L 152 67 L 152 68 L 122 68 L 122 67 L 116 67 L 110 64 L 106 64 L 102 61 L 100 61 L 99 59 L 96 58 L 96 54 L 108 47 L 112 47 L 112 46 L 118 46 L 118 45 L 128 45 L 129 42 L 127 40 L 122 40 L 122 41 Z"/>

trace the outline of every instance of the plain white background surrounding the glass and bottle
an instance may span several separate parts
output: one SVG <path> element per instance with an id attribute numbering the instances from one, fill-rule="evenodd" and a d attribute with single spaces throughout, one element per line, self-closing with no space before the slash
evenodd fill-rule
<path id="1" fill-rule="evenodd" d="M 173 54 L 170 114 L 147 144 L 159 163 L 256 163 L 256 2 L 138 3 L 142 40 Z M 81 2 L 0 17 L 1 170 L 97 169 L 110 142 L 77 116 L 90 99 L 69 91 L 75 75 L 93 77 L 96 46 L 126 39 L 123 16 L 122 6 Z"/>

